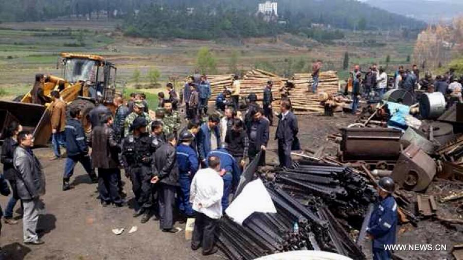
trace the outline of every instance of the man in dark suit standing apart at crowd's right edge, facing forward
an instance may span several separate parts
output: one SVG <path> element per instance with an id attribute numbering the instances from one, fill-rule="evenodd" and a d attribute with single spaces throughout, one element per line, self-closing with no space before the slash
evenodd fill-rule
<path id="1" fill-rule="evenodd" d="M 359 73 L 360 75 L 360 73 Z M 282 101 L 280 104 L 281 113 L 278 116 L 278 126 L 275 133 L 275 139 L 278 140 L 278 159 L 280 167 L 291 167 L 291 148 L 293 141 L 297 138 L 299 128 L 297 118 L 291 112 L 291 105 L 288 101 Z"/>

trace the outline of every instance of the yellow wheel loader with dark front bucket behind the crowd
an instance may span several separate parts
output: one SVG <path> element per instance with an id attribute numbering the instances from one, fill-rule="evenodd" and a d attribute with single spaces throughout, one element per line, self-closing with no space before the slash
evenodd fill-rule
<path id="1" fill-rule="evenodd" d="M 57 65 L 60 64 L 63 78 L 46 76 L 42 85 L 44 95 L 49 96 L 52 90 L 60 91 L 60 97 L 68 104 L 68 109 L 81 108 L 84 114 L 82 123 L 89 131 L 90 122 L 86 115 L 95 107 L 97 95 L 101 95 L 103 103 L 114 110 L 111 107 L 113 98 L 123 92 L 123 88 L 116 88 L 117 69 L 103 57 L 92 54 L 61 53 Z M 63 84 L 64 88 L 60 89 Z M 51 106 L 50 103 L 33 104 L 31 92 L 15 101 L 0 101 L 0 133 L 4 132 L 11 121 L 17 121 L 24 129 L 33 132 L 36 146 L 44 146 L 51 136 Z M 2 137 L 0 141 L 3 141 Z"/>

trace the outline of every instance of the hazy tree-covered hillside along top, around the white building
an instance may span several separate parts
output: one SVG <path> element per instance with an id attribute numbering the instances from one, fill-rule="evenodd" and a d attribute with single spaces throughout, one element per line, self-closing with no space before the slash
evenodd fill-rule
<path id="1" fill-rule="evenodd" d="M 258 0 L 0 0 L 0 21 L 58 17 L 121 18 L 127 35 L 159 39 L 305 34 L 317 41 L 342 39 L 346 30 L 416 30 L 424 22 L 355 0 L 280 0 L 278 17 L 257 14 Z"/>

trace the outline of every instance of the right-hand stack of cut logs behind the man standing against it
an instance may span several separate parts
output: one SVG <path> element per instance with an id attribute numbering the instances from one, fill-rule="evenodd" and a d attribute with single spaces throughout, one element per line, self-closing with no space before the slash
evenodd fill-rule
<path id="1" fill-rule="evenodd" d="M 321 72 L 318 77 L 318 93 L 333 94 L 339 89 L 339 78 L 336 71 Z M 312 75 L 310 73 L 296 73 L 292 80 L 294 88 L 290 89 L 290 96 L 296 115 L 310 115 L 323 113 L 319 94 L 312 93 Z"/>

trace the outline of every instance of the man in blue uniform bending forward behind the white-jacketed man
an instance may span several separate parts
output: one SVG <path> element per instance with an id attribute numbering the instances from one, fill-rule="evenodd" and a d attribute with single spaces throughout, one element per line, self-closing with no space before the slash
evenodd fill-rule
<path id="1" fill-rule="evenodd" d="M 228 207 L 228 197 L 230 195 L 231 185 L 238 183 L 241 177 L 241 171 L 236 163 L 235 158 L 228 153 L 227 145 L 222 143 L 217 150 L 209 152 L 207 159 L 211 156 L 216 156 L 220 159 L 220 169 L 222 169 L 223 179 L 223 197 L 222 197 L 222 210 L 225 211 Z M 208 161 L 208 160 L 206 160 Z"/>

